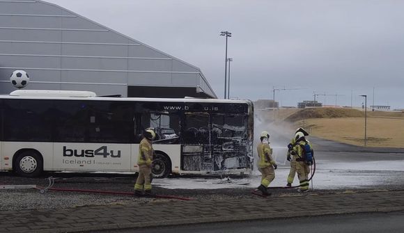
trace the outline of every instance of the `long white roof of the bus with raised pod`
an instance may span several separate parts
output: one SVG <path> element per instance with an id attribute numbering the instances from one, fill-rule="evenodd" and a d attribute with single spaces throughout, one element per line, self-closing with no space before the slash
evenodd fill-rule
<path id="1" fill-rule="evenodd" d="M 74 99 L 74 100 L 113 100 L 139 102 L 205 102 L 205 103 L 248 103 L 250 100 L 201 99 L 201 98 L 146 98 L 146 97 L 98 97 L 91 91 L 80 90 L 15 90 L 10 95 L 0 95 L 0 99 Z"/>

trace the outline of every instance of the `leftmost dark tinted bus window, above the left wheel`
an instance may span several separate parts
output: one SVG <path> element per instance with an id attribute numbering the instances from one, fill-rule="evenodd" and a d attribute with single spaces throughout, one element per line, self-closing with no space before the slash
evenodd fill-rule
<path id="1" fill-rule="evenodd" d="M 4 140 L 47 142 L 52 140 L 52 101 L 4 100 Z"/>

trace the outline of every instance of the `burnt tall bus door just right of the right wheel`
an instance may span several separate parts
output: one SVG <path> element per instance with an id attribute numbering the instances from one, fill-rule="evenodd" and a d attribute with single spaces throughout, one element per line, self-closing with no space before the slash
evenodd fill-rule
<path id="1" fill-rule="evenodd" d="M 187 171 L 214 170 L 210 130 L 210 115 L 203 112 L 185 113 L 181 127 L 181 169 Z"/>

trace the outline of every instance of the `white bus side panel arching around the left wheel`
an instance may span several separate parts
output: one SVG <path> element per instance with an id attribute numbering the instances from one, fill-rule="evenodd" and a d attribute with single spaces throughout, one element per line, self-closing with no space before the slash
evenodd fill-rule
<path id="1" fill-rule="evenodd" d="M 24 142 L 3 142 L 2 156 L 8 156 L 10 159 L 7 166 L 3 167 L 4 170 L 13 169 L 13 156 L 17 155 L 15 152 L 22 149 L 32 149 L 40 152 L 43 158 L 43 170 L 52 170 L 52 152 L 53 143 L 24 143 Z"/>

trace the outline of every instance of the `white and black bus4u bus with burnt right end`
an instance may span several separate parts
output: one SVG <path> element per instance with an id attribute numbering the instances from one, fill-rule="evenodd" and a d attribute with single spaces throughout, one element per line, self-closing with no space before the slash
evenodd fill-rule
<path id="1" fill-rule="evenodd" d="M 244 174 L 253 169 L 249 100 L 98 97 L 15 90 L 0 95 L 0 170 L 138 172 L 142 132 L 152 128 L 153 176 Z"/>

